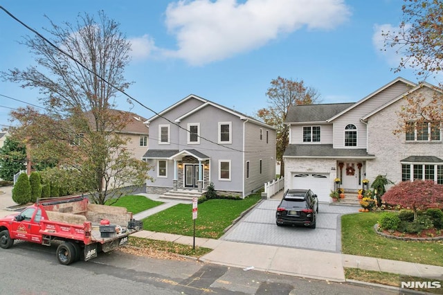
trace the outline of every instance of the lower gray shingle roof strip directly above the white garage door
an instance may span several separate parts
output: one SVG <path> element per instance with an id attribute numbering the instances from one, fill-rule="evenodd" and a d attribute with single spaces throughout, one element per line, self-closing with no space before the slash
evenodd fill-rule
<path id="1" fill-rule="evenodd" d="M 373 159 L 366 149 L 338 149 L 332 145 L 288 145 L 284 157 L 299 158 L 365 158 Z"/>

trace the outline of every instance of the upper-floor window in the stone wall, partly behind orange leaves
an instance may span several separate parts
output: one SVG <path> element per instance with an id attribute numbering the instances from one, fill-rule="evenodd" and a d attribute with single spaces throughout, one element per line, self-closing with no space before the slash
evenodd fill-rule
<path id="1" fill-rule="evenodd" d="M 406 122 L 406 141 L 440 141 L 440 122 Z"/>

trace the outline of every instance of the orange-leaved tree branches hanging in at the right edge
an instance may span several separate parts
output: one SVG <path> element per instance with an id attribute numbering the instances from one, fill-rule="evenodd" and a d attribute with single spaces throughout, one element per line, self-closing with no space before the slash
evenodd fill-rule
<path id="1" fill-rule="evenodd" d="M 395 72 L 413 69 L 418 80 L 441 78 L 443 69 L 443 1 L 404 0 L 403 19 L 398 30 L 385 31 L 385 48 L 401 56 Z M 443 119 L 442 81 L 436 91 L 415 91 L 406 96 L 406 106 L 399 111 L 398 132 L 419 130 L 424 123 Z M 415 122 L 415 123 L 405 123 Z M 433 128 L 439 131 L 438 127 Z"/>

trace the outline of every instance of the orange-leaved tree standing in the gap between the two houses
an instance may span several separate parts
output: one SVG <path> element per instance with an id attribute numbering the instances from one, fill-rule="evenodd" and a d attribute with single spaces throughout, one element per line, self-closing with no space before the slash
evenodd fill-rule
<path id="1" fill-rule="evenodd" d="M 291 80 L 278 76 L 271 80 L 271 87 L 266 91 L 268 107 L 259 109 L 256 116 L 264 123 L 275 127 L 277 133 L 277 161 L 280 161 L 280 175 L 284 176 L 284 150 L 289 143 L 289 126 L 284 124 L 289 107 L 292 105 L 311 105 L 318 102 L 320 94 L 312 87 L 307 87 L 303 80 Z"/>

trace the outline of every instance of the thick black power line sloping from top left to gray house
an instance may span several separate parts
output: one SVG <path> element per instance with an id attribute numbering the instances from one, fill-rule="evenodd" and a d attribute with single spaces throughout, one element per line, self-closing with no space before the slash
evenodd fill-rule
<path id="1" fill-rule="evenodd" d="M 114 84 L 111 84 L 111 82 L 108 82 L 105 78 L 102 78 L 102 76 L 98 75 L 98 73 L 90 70 L 87 66 L 85 66 L 84 64 L 82 64 L 81 62 L 79 62 L 77 59 L 75 59 L 75 57 L 73 57 L 72 55 L 70 55 L 69 53 L 66 53 L 65 51 L 63 51 L 61 48 L 57 47 L 55 44 L 53 44 L 51 41 L 49 41 L 48 39 L 46 39 L 46 37 L 44 37 L 42 34 L 40 34 L 39 32 L 37 32 L 37 30 L 30 28 L 30 26 L 26 25 L 23 21 L 21 21 L 20 19 L 18 19 L 17 17 L 15 17 L 14 15 L 12 15 L 12 13 L 10 13 L 8 10 L 6 10 L 6 8 L 3 8 L 3 6 L 0 6 L 1 10 L 3 10 L 4 12 L 6 12 L 6 14 L 8 14 L 10 17 L 12 17 L 12 19 L 15 19 L 15 21 L 19 22 L 19 24 L 21 24 L 22 26 L 24 26 L 25 28 L 27 28 L 28 30 L 30 30 L 31 32 L 35 33 L 35 35 L 37 35 L 38 37 L 42 38 L 46 43 L 48 43 L 49 45 L 53 46 L 53 48 L 55 48 L 57 51 L 60 51 L 60 53 L 66 55 L 67 57 L 69 57 L 71 60 L 73 60 L 75 63 L 77 63 L 79 66 L 81 66 L 83 69 L 85 69 L 86 71 L 88 71 L 89 73 L 92 73 L 93 75 L 96 75 L 97 78 L 99 78 L 100 80 L 102 80 L 103 82 L 105 82 L 106 84 L 108 84 L 110 87 L 116 89 L 117 91 L 119 91 L 120 93 L 123 93 L 123 95 L 127 96 L 127 98 L 134 100 L 135 102 L 138 103 L 138 105 L 141 105 L 141 107 L 144 107 L 145 109 L 147 109 L 148 111 L 152 111 L 152 113 L 154 113 L 156 116 L 159 116 L 160 118 L 163 118 L 165 120 L 167 120 L 169 123 L 176 125 L 177 127 L 179 127 L 180 129 L 186 130 L 186 132 L 189 132 L 188 129 L 181 127 L 179 124 L 172 122 L 172 120 L 165 118 L 164 116 L 162 116 L 161 114 L 157 113 L 156 111 L 154 111 L 153 109 L 151 109 L 150 107 L 147 107 L 145 105 L 143 105 L 143 103 L 139 102 L 138 100 L 136 100 L 136 98 L 133 98 L 132 96 L 130 96 L 129 94 L 127 94 L 124 90 L 114 86 Z M 204 141 L 208 141 L 208 143 L 213 143 L 215 145 L 219 145 L 221 147 L 224 147 L 228 150 L 234 150 L 235 152 L 245 152 L 244 150 L 237 150 L 233 147 L 228 147 L 226 145 L 221 145 L 219 143 L 216 143 L 215 141 L 211 141 L 208 138 L 204 138 L 199 136 L 201 139 L 203 139 Z"/>

